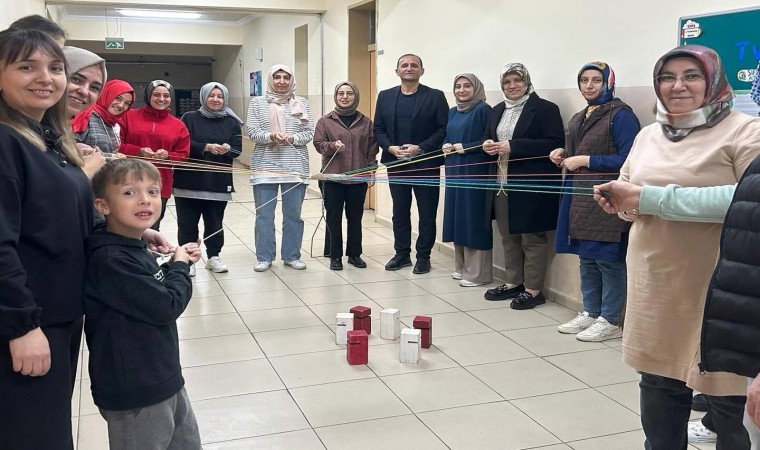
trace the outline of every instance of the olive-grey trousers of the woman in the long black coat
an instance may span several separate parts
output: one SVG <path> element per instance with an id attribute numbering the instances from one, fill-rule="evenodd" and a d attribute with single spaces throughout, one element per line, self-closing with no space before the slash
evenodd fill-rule
<path id="1" fill-rule="evenodd" d="M 509 206 L 506 195 L 493 202 L 496 225 L 504 246 L 504 271 L 508 284 L 525 284 L 526 289 L 543 290 L 549 240 L 546 233 L 509 234 Z"/>

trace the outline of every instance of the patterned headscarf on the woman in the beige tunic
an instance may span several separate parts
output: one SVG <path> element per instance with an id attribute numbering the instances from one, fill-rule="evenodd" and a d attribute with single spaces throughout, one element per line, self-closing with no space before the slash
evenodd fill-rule
<path id="1" fill-rule="evenodd" d="M 673 114 L 667 110 L 662 101 L 657 77 L 662 67 L 674 58 L 694 58 L 702 68 L 705 76 L 705 100 L 694 111 Z M 723 62 L 715 50 L 702 45 L 676 47 L 665 53 L 654 66 L 654 90 L 657 93 L 657 122 L 662 125 L 662 132 L 671 141 L 680 141 L 697 127 L 714 127 L 731 113 L 729 102 L 734 98 L 734 91 L 728 84 Z"/>

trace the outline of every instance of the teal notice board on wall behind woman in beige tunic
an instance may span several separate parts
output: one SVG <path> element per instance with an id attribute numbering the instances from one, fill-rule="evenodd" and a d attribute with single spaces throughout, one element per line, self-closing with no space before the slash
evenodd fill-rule
<path id="1" fill-rule="evenodd" d="M 715 49 L 736 99 L 734 107 L 757 114 L 749 89 L 760 61 L 760 8 L 684 16 L 678 23 L 679 45 L 699 44 Z"/>

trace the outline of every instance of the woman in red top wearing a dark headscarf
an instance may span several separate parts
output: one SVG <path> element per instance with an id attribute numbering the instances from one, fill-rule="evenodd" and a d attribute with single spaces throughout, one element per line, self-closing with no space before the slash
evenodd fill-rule
<path id="1" fill-rule="evenodd" d="M 190 153 L 190 134 L 171 114 L 174 88 L 168 81 L 154 80 L 145 86 L 145 106 L 130 109 L 122 117 L 121 152 L 153 160 L 161 173 L 161 216 L 151 228 L 158 230 L 172 195 L 174 172 L 162 160 L 185 161 Z"/>

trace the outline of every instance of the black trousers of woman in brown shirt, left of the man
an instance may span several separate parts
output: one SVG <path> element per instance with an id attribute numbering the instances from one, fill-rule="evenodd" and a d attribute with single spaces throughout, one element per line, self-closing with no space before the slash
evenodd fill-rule
<path id="1" fill-rule="evenodd" d="M 346 211 L 346 255 L 362 254 L 362 216 L 367 183 L 341 184 L 326 181 L 324 184 L 327 233 L 330 241 L 330 258 L 343 257 L 343 211 Z"/>

